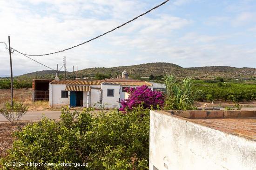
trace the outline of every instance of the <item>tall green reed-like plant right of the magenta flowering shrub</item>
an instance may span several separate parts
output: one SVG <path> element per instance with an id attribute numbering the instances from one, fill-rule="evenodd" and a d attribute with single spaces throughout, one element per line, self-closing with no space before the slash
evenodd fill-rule
<path id="1" fill-rule="evenodd" d="M 174 75 L 166 75 L 164 77 L 166 86 L 166 107 L 168 109 L 192 109 L 194 100 L 200 91 L 193 91 L 193 81 L 189 78 L 182 79 L 181 83 L 177 83 Z"/>

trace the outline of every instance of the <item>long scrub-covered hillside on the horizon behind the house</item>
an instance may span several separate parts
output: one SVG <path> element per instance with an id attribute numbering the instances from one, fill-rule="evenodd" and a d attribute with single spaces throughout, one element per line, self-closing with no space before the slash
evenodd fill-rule
<path id="1" fill-rule="evenodd" d="M 202 79 L 211 79 L 218 76 L 231 79 L 255 79 L 255 68 L 236 68 L 228 66 L 210 66 L 210 67 L 193 67 L 182 68 L 179 65 L 172 63 L 146 63 L 131 66 L 120 67 L 98 67 L 79 70 L 78 76 L 94 77 L 97 74 L 104 74 L 108 76 L 118 76 L 121 72 L 126 70 L 131 78 L 149 77 L 150 75 L 162 76 L 166 74 L 174 74 L 177 77 L 193 77 Z M 55 71 L 37 71 L 25 75 L 17 76 L 17 79 L 33 79 L 33 78 L 54 78 Z M 60 76 L 63 77 L 64 72 L 61 71 Z M 72 78 L 73 73 L 67 72 L 67 78 Z"/>

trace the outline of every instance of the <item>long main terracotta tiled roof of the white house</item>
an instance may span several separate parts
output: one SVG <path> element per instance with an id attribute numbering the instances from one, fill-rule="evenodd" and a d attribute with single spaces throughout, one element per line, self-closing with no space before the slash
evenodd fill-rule
<path id="1" fill-rule="evenodd" d="M 94 81 L 86 81 L 86 80 L 61 80 L 61 81 L 56 81 L 54 80 L 53 82 L 50 82 L 51 84 L 67 84 L 67 85 L 101 85 L 101 84 L 116 84 L 116 85 L 121 85 L 121 86 L 142 86 L 142 85 L 147 85 L 147 86 L 152 86 L 151 83 L 149 82 L 144 82 L 144 81 L 108 81 L 108 80 L 94 80 Z"/>

